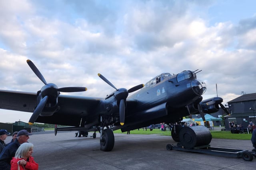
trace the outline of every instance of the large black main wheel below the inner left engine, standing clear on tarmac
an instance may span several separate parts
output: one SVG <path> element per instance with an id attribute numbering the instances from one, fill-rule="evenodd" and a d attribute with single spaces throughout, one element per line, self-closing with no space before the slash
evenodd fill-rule
<path id="1" fill-rule="evenodd" d="M 111 129 L 104 129 L 100 140 L 100 150 L 111 151 L 114 147 L 115 138 Z"/>

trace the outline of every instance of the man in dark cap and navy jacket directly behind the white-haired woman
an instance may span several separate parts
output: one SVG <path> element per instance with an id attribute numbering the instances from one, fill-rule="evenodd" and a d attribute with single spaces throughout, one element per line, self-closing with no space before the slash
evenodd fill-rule
<path id="1" fill-rule="evenodd" d="M 11 169 L 11 160 L 12 157 L 15 156 L 15 152 L 17 151 L 18 147 L 22 143 L 28 142 L 29 136 L 32 133 L 28 133 L 26 130 L 21 130 L 17 134 L 17 138 L 14 142 L 7 145 L 0 154 L 0 168 L 1 170 L 10 170 Z"/>

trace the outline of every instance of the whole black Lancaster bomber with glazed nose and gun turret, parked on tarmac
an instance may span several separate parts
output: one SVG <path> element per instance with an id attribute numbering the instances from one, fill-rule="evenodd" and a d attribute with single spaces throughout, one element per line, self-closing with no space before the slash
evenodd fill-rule
<path id="1" fill-rule="evenodd" d="M 32 112 L 30 124 L 38 122 L 69 126 L 56 126 L 55 135 L 57 130 L 74 130 L 87 135 L 89 131 L 94 131 L 95 138 L 95 131 L 99 131 L 100 149 L 103 151 L 113 149 L 113 131 L 116 129 L 125 132 L 165 122 L 174 125 L 171 134 L 178 142 L 186 133 L 180 134 L 182 127 L 178 124 L 182 117 L 200 113 L 204 119 L 204 113 L 214 113 L 220 107 L 228 113 L 221 104 L 222 98 L 202 100 L 206 84 L 196 78 L 200 72 L 198 70 L 184 70 L 173 75 L 162 73 L 145 85 L 139 84 L 128 90 L 116 88 L 102 74 L 98 74 L 115 91 L 106 98 L 94 98 L 60 94 L 82 92 L 87 88 L 58 88 L 56 84 L 46 82 L 32 61 L 27 60 L 27 63 L 44 86 L 37 93 L 0 90 L 0 109 Z M 129 96 L 131 92 L 134 93 Z M 187 133 L 184 136 L 188 138 Z"/>

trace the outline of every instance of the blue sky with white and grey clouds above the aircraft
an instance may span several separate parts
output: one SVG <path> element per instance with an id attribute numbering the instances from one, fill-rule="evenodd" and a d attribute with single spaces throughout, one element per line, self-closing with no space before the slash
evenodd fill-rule
<path id="1" fill-rule="evenodd" d="M 0 0 L 0 89 L 37 92 L 46 81 L 105 97 L 162 72 L 202 70 L 204 99 L 256 92 L 254 0 Z M 0 122 L 30 113 L 0 109 Z"/>

